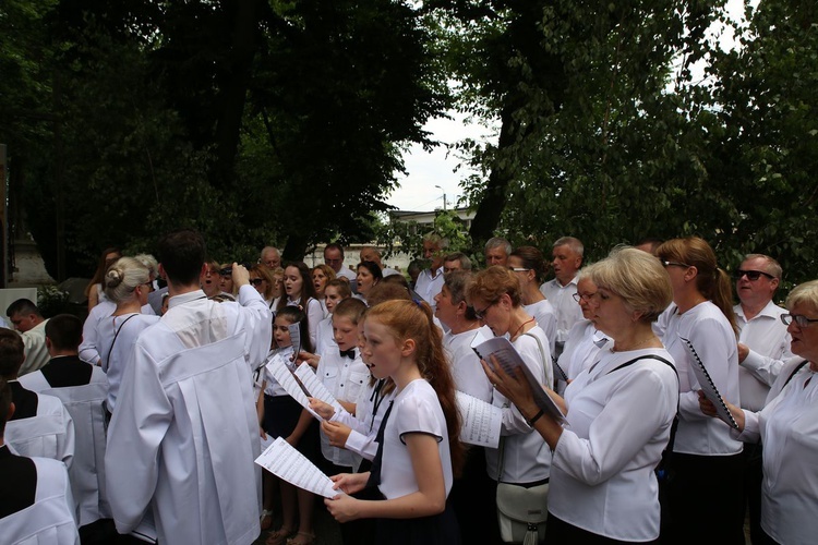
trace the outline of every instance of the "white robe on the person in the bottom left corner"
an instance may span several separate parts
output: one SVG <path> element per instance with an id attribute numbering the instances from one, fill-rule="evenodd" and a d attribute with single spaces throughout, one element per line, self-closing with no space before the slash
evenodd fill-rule
<path id="1" fill-rule="evenodd" d="M 75 506 L 65 465 L 46 458 L 32 458 L 32 461 L 37 471 L 34 505 L 0 519 L 3 543 L 79 545 Z"/>

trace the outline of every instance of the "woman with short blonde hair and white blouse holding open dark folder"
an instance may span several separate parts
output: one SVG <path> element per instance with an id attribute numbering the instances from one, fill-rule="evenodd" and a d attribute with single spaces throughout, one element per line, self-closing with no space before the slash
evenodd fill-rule
<path id="1" fill-rule="evenodd" d="M 591 319 L 613 342 L 567 386 L 565 399 L 546 390 L 567 426 L 537 404 L 522 373 L 483 368 L 553 451 L 545 543 L 655 543 L 654 468 L 671 435 L 678 385 L 651 323 L 671 301 L 670 281 L 655 257 L 636 249 L 612 252 L 580 277 L 596 283 Z"/>

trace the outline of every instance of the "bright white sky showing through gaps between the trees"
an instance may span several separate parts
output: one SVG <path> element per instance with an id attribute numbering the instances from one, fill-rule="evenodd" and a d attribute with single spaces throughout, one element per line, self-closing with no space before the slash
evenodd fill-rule
<path id="1" fill-rule="evenodd" d="M 758 5 L 758 0 L 753 0 L 750 3 Z M 743 0 L 727 0 L 727 11 L 732 19 L 742 19 Z M 711 34 L 719 40 L 722 48 L 732 47 L 732 34 L 720 33 L 718 27 L 714 27 Z M 452 116 L 450 120 L 433 119 L 424 129 L 433 134 L 434 140 L 443 144 L 454 144 L 466 137 L 483 142 L 496 141 L 496 134 L 492 130 L 479 124 L 468 124 L 458 113 L 452 113 Z M 409 175 L 399 177 L 400 187 L 386 199 L 388 204 L 397 206 L 400 210 L 430 211 L 443 208 L 444 194 L 446 204 L 450 208 L 462 195 L 460 182 L 471 173 L 466 168 L 454 172 L 460 159 L 455 153 L 449 154 L 445 145 L 437 146 L 431 153 L 424 152 L 422 146 L 412 145 L 404 154 L 404 160 Z"/>

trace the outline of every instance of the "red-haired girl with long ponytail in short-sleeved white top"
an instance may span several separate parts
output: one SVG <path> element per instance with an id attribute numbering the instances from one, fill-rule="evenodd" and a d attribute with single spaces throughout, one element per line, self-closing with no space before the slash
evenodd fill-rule
<path id="1" fill-rule="evenodd" d="M 428 304 L 386 301 L 366 313 L 364 359 L 376 378 L 392 377 L 396 395 L 378 429 L 368 473 L 333 476 L 339 494 L 325 504 L 340 522 L 376 519 L 375 543 L 459 543 L 447 502 L 462 460 L 455 387 L 441 331 Z M 377 486 L 383 500 L 356 494 Z"/>

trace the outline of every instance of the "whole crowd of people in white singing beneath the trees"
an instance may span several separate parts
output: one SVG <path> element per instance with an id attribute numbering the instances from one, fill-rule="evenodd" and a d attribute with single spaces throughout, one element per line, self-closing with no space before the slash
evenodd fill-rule
<path id="1" fill-rule="evenodd" d="M 179 230 L 156 258 L 106 249 L 84 322 L 12 304 L 2 541 L 309 545 L 323 502 L 350 545 L 743 544 L 746 520 L 753 544 L 811 542 L 818 281 L 783 308 L 774 258 L 732 282 L 696 237 L 592 264 L 563 237 L 550 280 L 502 238 L 482 268 L 434 233 L 422 252 L 409 278 L 338 244 L 312 268 L 273 246 L 245 267 Z M 521 366 L 481 359 L 483 337 Z M 303 372 L 337 403 L 279 383 Z M 496 448 L 461 441 L 461 395 L 498 414 Z M 255 464 L 276 438 L 336 495 Z"/>

